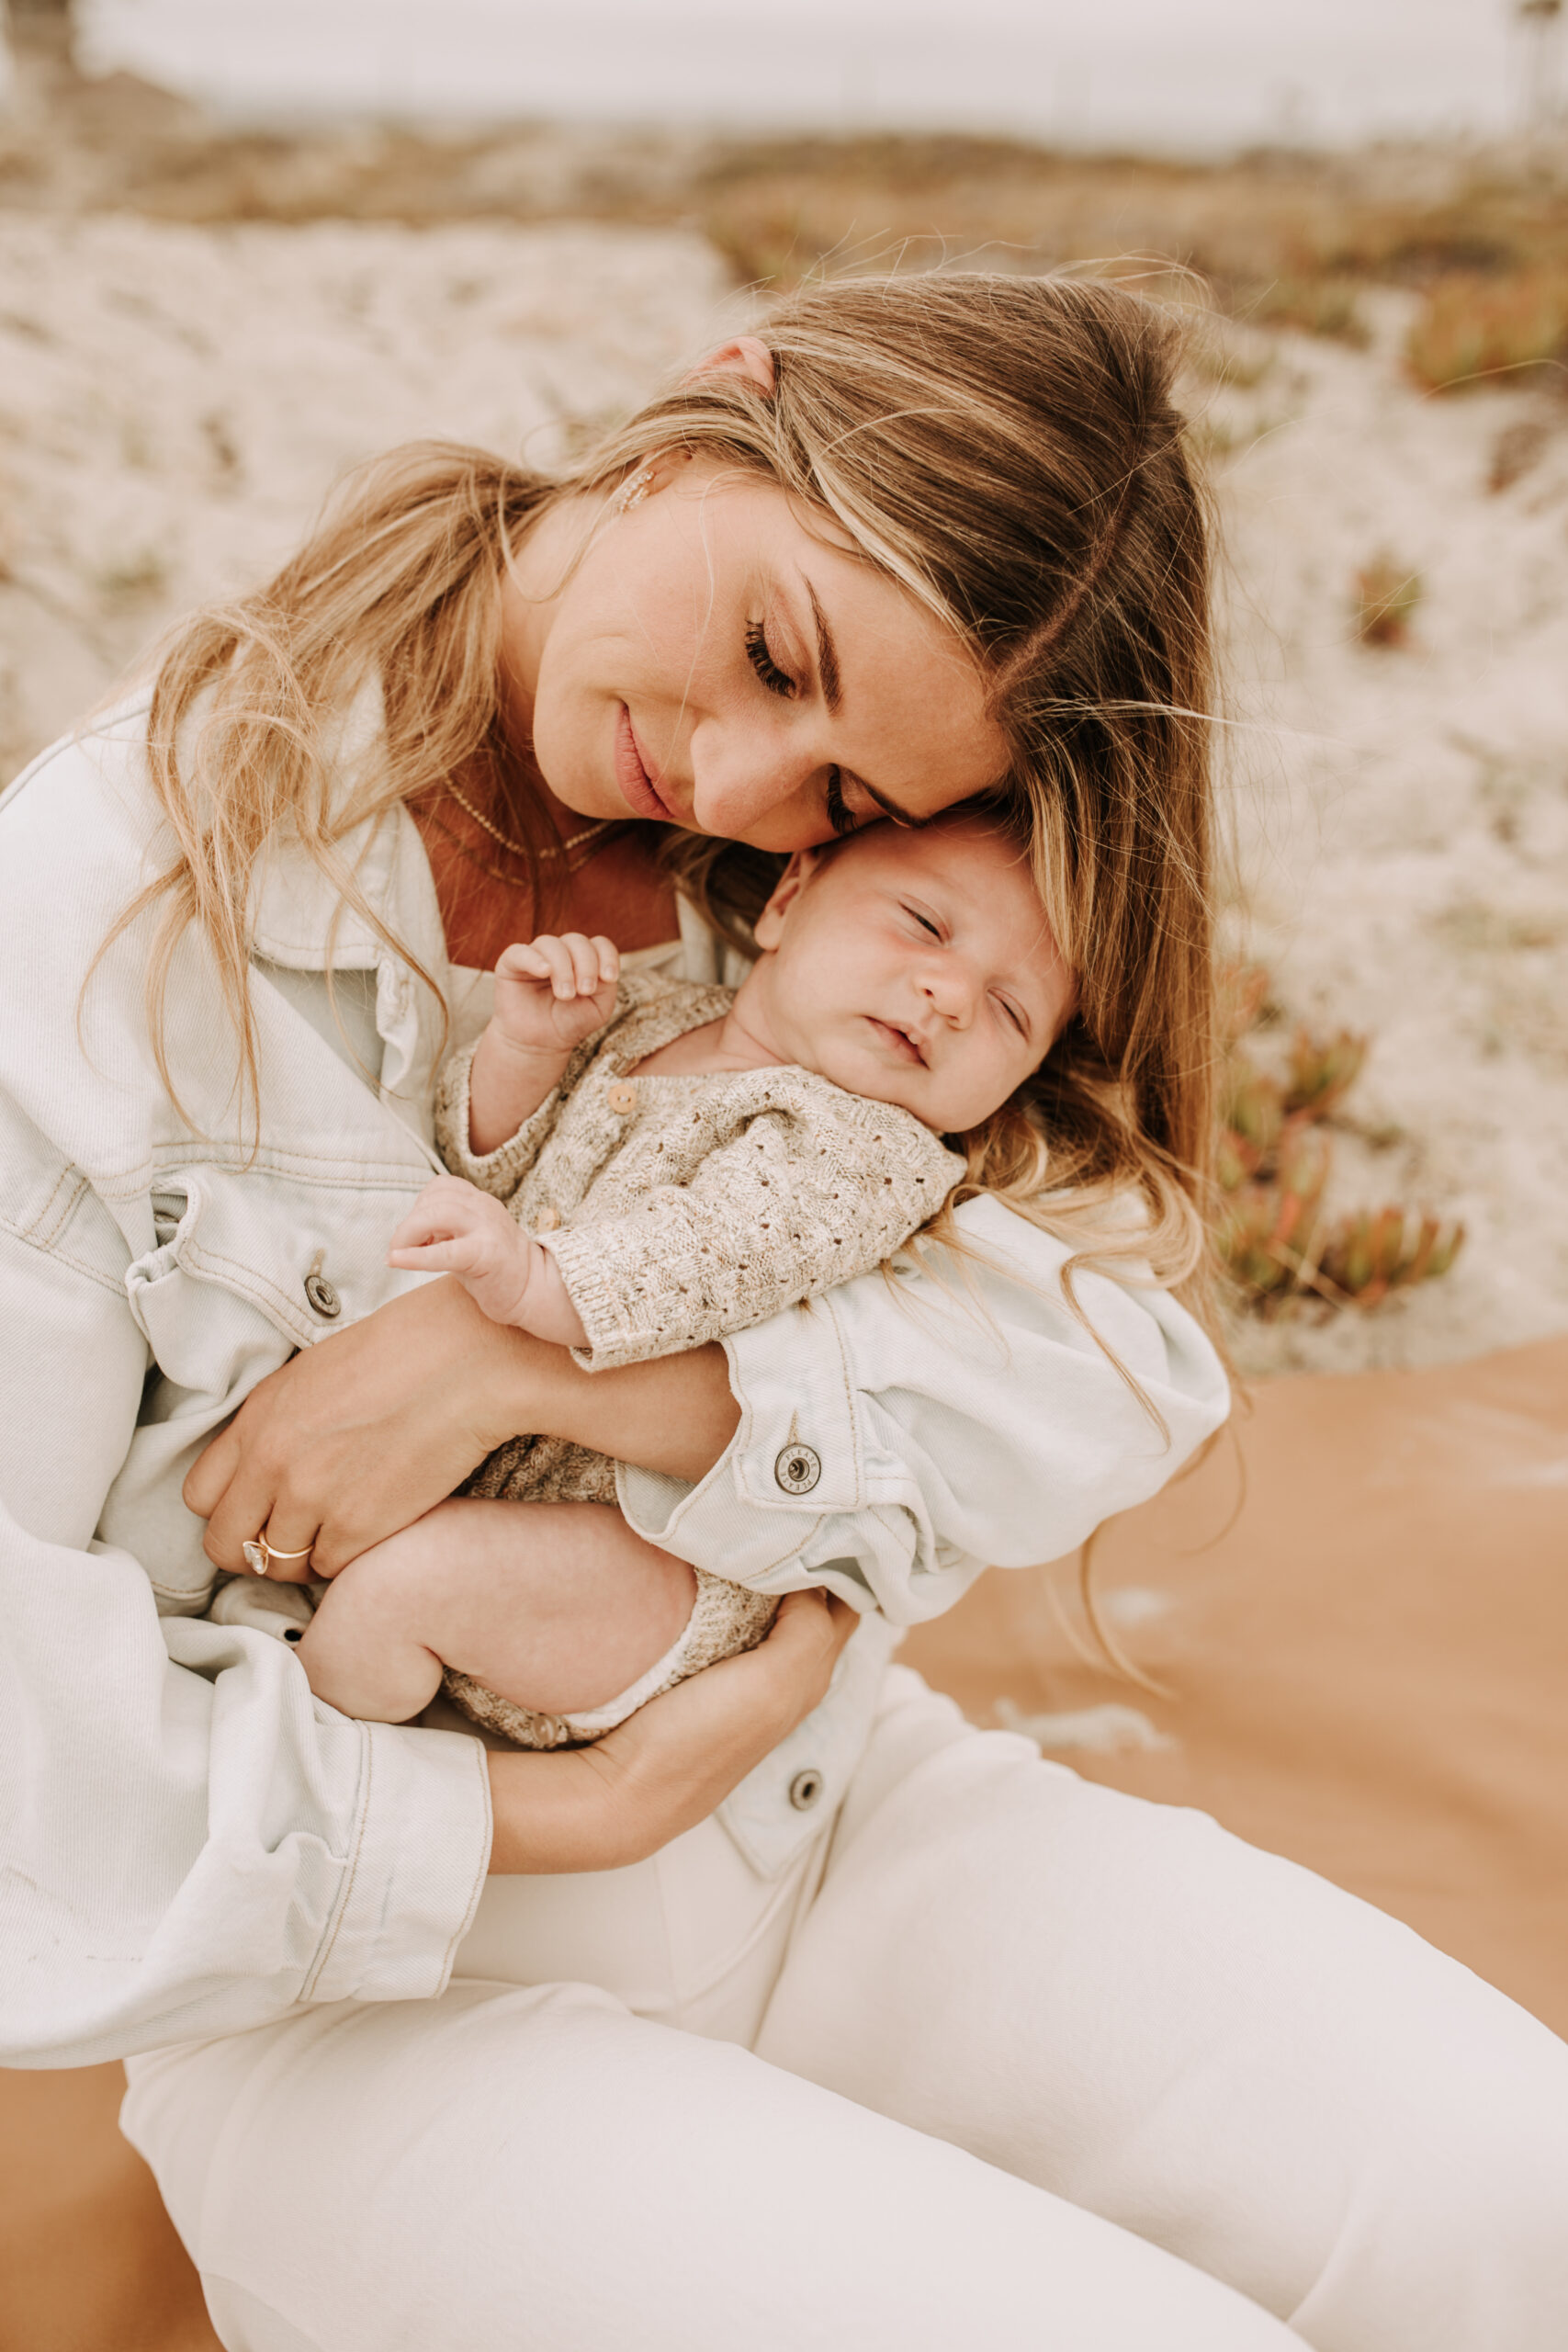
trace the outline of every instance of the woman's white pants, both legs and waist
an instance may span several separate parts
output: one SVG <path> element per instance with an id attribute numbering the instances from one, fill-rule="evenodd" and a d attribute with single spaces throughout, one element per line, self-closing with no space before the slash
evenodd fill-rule
<path id="1" fill-rule="evenodd" d="M 230 2352 L 1568 2345 L 1568 2046 L 907 1670 L 783 1884 L 710 1823 L 458 1966 L 132 2063 Z"/>

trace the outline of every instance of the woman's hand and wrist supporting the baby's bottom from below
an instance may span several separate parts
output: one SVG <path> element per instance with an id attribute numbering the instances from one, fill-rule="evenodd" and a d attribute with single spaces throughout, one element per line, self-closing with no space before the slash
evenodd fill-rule
<path id="1" fill-rule="evenodd" d="M 849 1602 L 790 1592 L 766 1642 L 691 1675 L 597 1745 L 491 1750 L 491 1872 L 623 1870 L 708 1820 L 823 1703 L 856 1625 Z"/>

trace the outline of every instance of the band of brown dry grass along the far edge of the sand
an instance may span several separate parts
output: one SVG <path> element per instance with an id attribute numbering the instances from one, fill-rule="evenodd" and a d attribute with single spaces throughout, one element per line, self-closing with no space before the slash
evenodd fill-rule
<path id="1" fill-rule="evenodd" d="M 1063 155 L 1009 139 L 715 141 L 517 125 L 226 132 L 115 75 L 42 64 L 0 125 L 0 207 L 132 209 L 179 221 L 536 221 L 693 226 L 745 285 L 816 270 L 983 261 L 1190 270 L 1222 310 L 1356 341 L 1359 289 L 1432 289 L 1410 348 L 1429 383 L 1540 365 L 1561 336 L 1568 176 L 1434 151 L 1225 165 Z M 1150 261 L 1150 256 L 1157 256 Z M 1208 299 L 1204 294 L 1204 299 Z"/>

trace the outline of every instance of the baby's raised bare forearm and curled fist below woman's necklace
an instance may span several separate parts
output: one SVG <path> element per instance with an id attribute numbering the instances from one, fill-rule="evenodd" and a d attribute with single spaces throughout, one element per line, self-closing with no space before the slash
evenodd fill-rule
<path id="1" fill-rule="evenodd" d="M 611 1018 L 621 953 L 583 931 L 517 941 L 496 964 L 496 1011 L 468 1073 L 468 1148 L 494 1152 L 534 1117 L 583 1037 Z"/>

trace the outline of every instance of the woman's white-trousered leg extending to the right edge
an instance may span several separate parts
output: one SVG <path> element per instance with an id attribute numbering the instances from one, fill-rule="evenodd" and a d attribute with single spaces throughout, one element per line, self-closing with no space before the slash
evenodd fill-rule
<path id="1" fill-rule="evenodd" d="M 1324 2352 L 1568 2345 L 1568 2046 L 1213 1820 L 889 1703 L 757 2051 Z"/>

